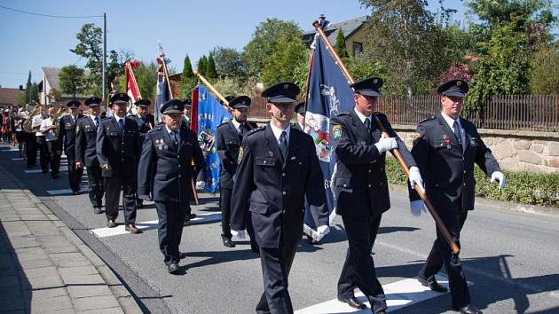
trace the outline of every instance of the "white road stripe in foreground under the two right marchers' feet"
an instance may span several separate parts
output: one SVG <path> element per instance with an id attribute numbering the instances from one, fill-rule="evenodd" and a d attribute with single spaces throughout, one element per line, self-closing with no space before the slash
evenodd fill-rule
<path id="1" fill-rule="evenodd" d="M 437 275 L 437 281 L 441 286 L 448 287 L 448 279 L 444 275 Z M 471 285 L 469 282 L 468 284 Z M 448 293 L 438 293 L 430 290 L 429 287 L 423 287 L 421 283 L 417 281 L 417 278 L 399 280 L 388 285 L 383 285 L 382 288 L 386 295 L 386 303 L 389 312 Z M 312 305 L 302 310 L 295 310 L 295 314 L 370 313 L 370 305 L 365 295 L 356 291 L 355 296 L 360 302 L 367 305 L 366 310 L 353 309 L 348 304 L 334 299 Z"/>

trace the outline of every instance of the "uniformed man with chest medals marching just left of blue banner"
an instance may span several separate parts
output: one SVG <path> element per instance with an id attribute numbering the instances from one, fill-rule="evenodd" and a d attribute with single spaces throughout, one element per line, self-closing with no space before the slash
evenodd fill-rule
<path id="1" fill-rule="evenodd" d="M 159 247 L 169 273 L 178 271 L 186 205 L 192 195 L 193 173 L 204 168 L 196 134 L 182 125 L 183 103 L 169 100 L 161 106 L 162 121 L 146 134 L 138 169 L 138 194 L 147 199 L 152 177 L 159 217 Z"/>

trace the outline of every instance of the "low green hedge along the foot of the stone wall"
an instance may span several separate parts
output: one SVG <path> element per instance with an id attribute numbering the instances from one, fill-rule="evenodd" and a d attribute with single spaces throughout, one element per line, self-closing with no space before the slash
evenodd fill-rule
<path id="1" fill-rule="evenodd" d="M 500 191 L 482 170 L 477 166 L 475 169 L 478 197 L 559 208 L 559 174 L 504 171 L 507 185 Z M 404 171 L 394 158 L 386 159 L 386 176 L 391 184 L 407 184 Z"/>

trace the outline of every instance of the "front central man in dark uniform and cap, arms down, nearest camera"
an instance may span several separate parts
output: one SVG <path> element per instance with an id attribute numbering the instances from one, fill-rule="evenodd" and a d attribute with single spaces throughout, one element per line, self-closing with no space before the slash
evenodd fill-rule
<path id="1" fill-rule="evenodd" d="M 287 291 L 297 243 L 303 236 L 305 197 L 319 217 L 318 232 L 329 232 L 326 192 L 312 138 L 291 128 L 299 88 L 279 82 L 264 90 L 270 124 L 248 132 L 232 192 L 231 229 L 244 237 L 251 216 L 264 279 L 257 313 L 293 313 Z"/>

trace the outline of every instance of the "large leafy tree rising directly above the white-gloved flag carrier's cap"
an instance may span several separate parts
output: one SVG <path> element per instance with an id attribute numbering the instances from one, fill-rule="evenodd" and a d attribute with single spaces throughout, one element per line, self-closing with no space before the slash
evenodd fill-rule
<path id="1" fill-rule="evenodd" d="M 452 63 L 443 25 L 425 0 L 361 0 L 371 9 L 366 22 L 366 58 L 385 69 L 385 93 L 425 94 Z"/>

